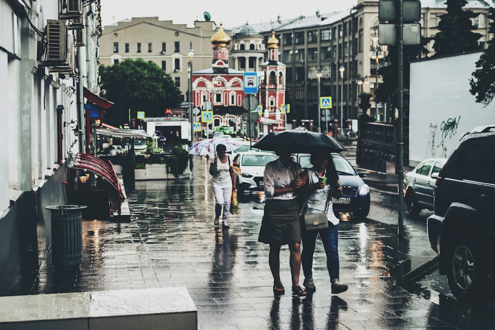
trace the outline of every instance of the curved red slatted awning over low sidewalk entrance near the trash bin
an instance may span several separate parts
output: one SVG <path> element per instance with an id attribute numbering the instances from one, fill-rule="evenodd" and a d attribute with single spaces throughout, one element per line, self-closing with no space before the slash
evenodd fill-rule
<path id="1" fill-rule="evenodd" d="M 122 201 L 125 199 L 124 192 L 120 188 L 120 183 L 117 178 L 117 174 L 113 169 L 113 165 L 110 161 L 108 163 L 104 162 L 98 157 L 95 157 L 89 153 L 81 153 L 78 152 L 76 154 L 76 159 L 74 160 L 74 168 L 89 170 L 98 175 L 101 175 L 103 178 L 108 181 L 113 188 L 115 188 L 119 194 L 119 207 L 122 204 Z"/>

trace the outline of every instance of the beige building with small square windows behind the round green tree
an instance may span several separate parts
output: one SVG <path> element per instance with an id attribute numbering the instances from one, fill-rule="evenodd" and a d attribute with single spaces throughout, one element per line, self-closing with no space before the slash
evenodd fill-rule
<path id="1" fill-rule="evenodd" d="M 101 64 L 112 65 L 127 58 L 153 61 L 170 74 L 188 101 L 189 55 L 192 47 L 193 71 L 211 67 L 211 36 L 217 31 L 213 21 L 195 21 L 194 27 L 160 21 L 158 17 L 133 17 L 128 21 L 107 25 L 99 39 Z M 226 31 L 232 36 L 231 31 Z"/>

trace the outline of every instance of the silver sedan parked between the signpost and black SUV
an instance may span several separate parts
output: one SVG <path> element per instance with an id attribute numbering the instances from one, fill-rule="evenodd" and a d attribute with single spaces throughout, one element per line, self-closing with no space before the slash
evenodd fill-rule
<path id="1" fill-rule="evenodd" d="M 433 211 L 433 189 L 446 161 L 446 158 L 429 158 L 405 174 L 403 193 L 409 214 L 416 215 L 424 208 Z"/>

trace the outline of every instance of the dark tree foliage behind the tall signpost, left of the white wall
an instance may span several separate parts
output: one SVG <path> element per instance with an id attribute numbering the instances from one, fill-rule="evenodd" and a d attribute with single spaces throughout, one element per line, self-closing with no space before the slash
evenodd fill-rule
<path id="1" fill-rule="evenodd" d="M 426 46 L 431 41 L 431 38 L 421 37 L 419 45 L 409 45 L 403 48 L 403 88 L 404 90 L 409 90 L 409 77 L 410 77 L 410 67 L 409 62 L 416 61 L 422 56 L 428 54 L 428 49 Z M 378 69 L 378 74 L 382 75 L 383 83 L 375 91 L 375 100 L 377 102 L 387 102 L 390 95 L 390 106 L 392 109 L 398 107 L 397 95 L 398 95 L 398 48 L 396 46 L 390 46 L 389 53 L 386 57 L 389 65 L 382 66 Z"/>

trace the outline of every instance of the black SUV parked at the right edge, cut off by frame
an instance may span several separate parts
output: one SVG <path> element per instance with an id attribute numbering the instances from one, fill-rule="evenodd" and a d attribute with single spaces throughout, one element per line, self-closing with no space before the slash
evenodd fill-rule
<path id="1" fill-rule="evenodd" d="M 465 301 L 487 301 L 494 293 L 495 125 L 466 133 L 435 183 L 435 213 L 428 238 L 439 254 L 439 272 Z"/>

